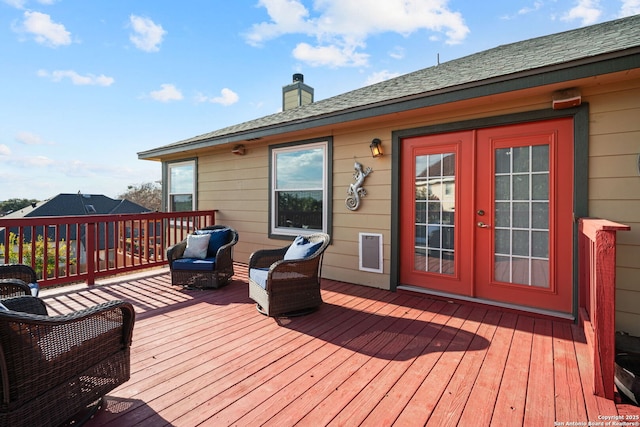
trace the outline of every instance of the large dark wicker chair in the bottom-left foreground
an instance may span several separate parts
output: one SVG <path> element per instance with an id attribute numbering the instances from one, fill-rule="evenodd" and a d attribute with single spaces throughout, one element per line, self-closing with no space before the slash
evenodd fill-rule
<path id="1" fill-rule="evenodd" d="M 0 426 L 60 425 L 129 379 L 131 304 L 48 316 L 37 297 L 1 303 Z"/>

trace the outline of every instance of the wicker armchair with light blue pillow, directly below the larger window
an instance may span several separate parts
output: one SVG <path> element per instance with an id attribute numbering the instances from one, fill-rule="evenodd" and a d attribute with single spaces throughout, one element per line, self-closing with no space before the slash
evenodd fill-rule
<path id="1" fill-rule="evenodd" d="M 329 235 L 298 236 L 281 249 L 262 249 L 249 258 L 249 298 L 272 316 L 307 314 L 322 304 L 320 277 Z"/>

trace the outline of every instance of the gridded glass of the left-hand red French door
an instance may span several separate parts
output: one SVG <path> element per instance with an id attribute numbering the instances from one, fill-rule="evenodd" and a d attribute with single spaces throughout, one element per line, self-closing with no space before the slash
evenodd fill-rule
<path id="1" fill-rule="evenodd" d="M 416 270 L 455 273 L 455 161 L 454 153 L 415 158 Z"/>

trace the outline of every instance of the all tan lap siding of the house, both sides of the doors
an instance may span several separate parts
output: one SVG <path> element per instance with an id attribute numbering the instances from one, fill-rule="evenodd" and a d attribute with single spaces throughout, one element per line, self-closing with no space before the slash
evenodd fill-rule
<path id="1" fill-rule="evenodd" d="M 593 86 L 586 86 L 594 84 Z M 597 86 L 595 85 L 597 84 Z M 640 335 L 640 81 L 611 83 L 611 79 L 578 82 L 583 101 L 590 104 L 589 214 L 632 227 L 619 233 L 619 326 Z M 202 154 L 198 160 L 199 208 L 218 209 L 217 221 L 235 227 L 240 239 L 234 259 L 247 262 L 261 248 L 281 247 L 286 241 L 268 238 L 269 145 L 333 137 L 332 245 L 325 254 L 323 276 L 335 280 L 389 288 L 391 259 L 391 158 L 394 131 L 497 117 L 549 108 L 549 88 L 492 96 L 462 103 L 409 111 L 375 120 L 299 132 L 296 136 L 267 137 L 247 142 L 244 156 L 229 147 Z M 380 138 L 385 155 L 373 159 L 369 144 Z M 367 196 L 357 211 L 345 207 L 354 162 L 371 167 L 365 182 Z M 358 270 L 358 234 L 383 235 L 384 273 Z M 639 325 L 639 326 L 635 326 Z"/>

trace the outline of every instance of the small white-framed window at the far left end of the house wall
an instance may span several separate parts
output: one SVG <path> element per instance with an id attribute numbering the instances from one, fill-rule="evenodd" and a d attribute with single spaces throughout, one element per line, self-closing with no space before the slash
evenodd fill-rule
<path id="1" fill-rule="evenodd" d="M 167 164 L 168 211 L 196 210 L 196 161 Z"/>

